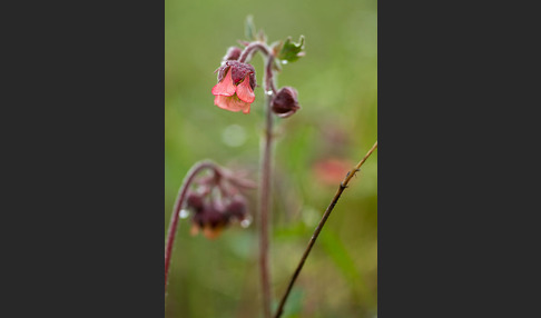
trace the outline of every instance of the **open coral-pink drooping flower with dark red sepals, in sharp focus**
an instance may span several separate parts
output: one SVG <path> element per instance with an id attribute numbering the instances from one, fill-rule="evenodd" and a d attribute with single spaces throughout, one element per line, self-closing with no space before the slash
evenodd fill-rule
<path id="1" fill-rule="evenodd" d="M 249 113 L 255 100 L 255 69 L 248 63 L 226 61 L 217 69 L 218 83 L 213 88 L 214 103 L 229 111 Z"/>

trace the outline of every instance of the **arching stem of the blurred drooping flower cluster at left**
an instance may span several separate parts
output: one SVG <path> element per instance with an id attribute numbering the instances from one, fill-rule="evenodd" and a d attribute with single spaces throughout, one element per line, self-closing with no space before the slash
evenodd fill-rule
<path id="1" fill-rule="evenodd" d="M 220 173 L 218 167 L 210 161 L 200 161 L 195 163 L 184 178 L 183 186 L 178 190 L 175 207 L 173 208 L 171 220 L 169 222 L 169 230 L 167 232 L 167 242 L 165 249 L 165 291 L 167 292 L 167 277 L 169 275 L 169 265 L 171 261 L 173 245 L 175 242 L 175 235 L 177 232 L 179 212 L 184 203 L 186 193 L 195 176 L 204 169 L 212 169 L 215 173 Z"/>

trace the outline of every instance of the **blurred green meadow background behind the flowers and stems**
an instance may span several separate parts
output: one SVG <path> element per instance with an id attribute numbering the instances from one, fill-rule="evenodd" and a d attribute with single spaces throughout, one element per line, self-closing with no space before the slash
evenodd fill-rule
<path id="1" fill-rule="evenodd" d="M 302 109 L 277 119 L 272 226 L 274 301 L 282 297 L 345 171 L 377 139 L 377 2 L 165 1 L 165 230 L 178 188 L 196 161 L 212 159 L 257 180 L 263 89 L 249 115 L 214 106 L 214 70 L 254 17 L 269 42 L 306 38 L 306 56 L 283 67 L 278 87 Z M 263 83 L 263 62 L 253 64 Z M 283 317 L 377 316 L 377 151 L 350 183 L 293 289 Z M 247 192 L 255 218 L 256 191 Z M 260 317 L 257 219 L 216 240 L 175 245 L 166 317 Z"/>

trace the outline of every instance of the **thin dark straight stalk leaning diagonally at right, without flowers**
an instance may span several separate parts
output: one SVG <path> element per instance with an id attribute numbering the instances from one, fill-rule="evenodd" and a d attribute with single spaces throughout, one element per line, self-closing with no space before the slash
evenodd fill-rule
<path id="1" fill-rule="evenodd" d="M 317 225 L 314 233 L 312 235 L 312 238 L 309 239 L 308 246 L 304 250 L 303 257 L 301 258 L 301 261 L 297 265 L 297 268 L 295 269 L 295 272 L 293 274 L 293 277 L 289 280 L 289 285 L 287 286 L 287 289 L 282 297 L 282 300 L 279 302 L 278 309 L 276 311 L 276 315 L 274 316 L 275 318 L 279 318 L 282 316 L 282 312 L 284 311 L 284 306 L 285 302 L 287 301 L 287 297 L 289 296 L 289 292 L 292 291 L 293 285 L 295 284 L 295 280 L 297 279 L 297 276 L 301 274 L 301 270 L 303 269 L 304 262 L 306 261 L 306 258 L 308 258 L 309 251 L 312 250 L 312 247 L 314 246 L 317 237 L 319 236 L 319 232 L 323 229 L 323 226 L 328 219 L 328 216 L 333 211 L 334 207 L 336 206 L 336 202 L 338 202 L 340 196 L 344 191 L 345 188 L 347 188 L 347 183 L 350 183 L 350 180 L 355 176 L 355 173 L 361 169 L 361 166 L 366 161 L 366 159 L 374 152 L 374 150 L 377 148 L 377 141 L 374 143 L 374 146 L 368 150 L 366 156 L 353 168 L 351 171 L 347 172 L 345 176 L 344 180 L 340 183 L 338 189 L 336 190 L 336 193 L 334 195 L 333 200 L 328 205 L 327 209 L 323 213 L 323 218 Z"/>

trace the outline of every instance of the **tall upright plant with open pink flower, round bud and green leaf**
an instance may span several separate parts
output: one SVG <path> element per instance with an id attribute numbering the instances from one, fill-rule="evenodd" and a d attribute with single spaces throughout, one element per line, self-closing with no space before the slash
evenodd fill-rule
<path id="1" fill-rule="evenodd" d="M 265 137 L 259 179 L 258 229 L 259 229 L 259 275 L 263 295 L 264 317 L 270 317 L 270 271 L 268 268 L 268 228 L 270 210 L 270 179 L 272 179 L 272 149 L 274 117 L 286 118 L 295 113 L 301 106 L 297 100 L 297 90 L 292 87 L 276 88 L 277 73 L 282 71 L 281 64 L 298 60 L 304 56 L 304 37 L 298 43 L 291 38 L 285 41 L 267 43 L 267 37 L 260 30 L 256 32 L 252 17 L 246 20 L 246 38 L 240 41 L 244 49 L 232 47 L 227 50 L 222 66 L 217 69 L 218 79 L 212 92 L 214 103 L 229 111 L 249 113 L 250 105 L 255 100 L 256 71 L 249 64 L 253 57 L 260 52 L 264 58 L 263 89 L 265 91 Z"/>

